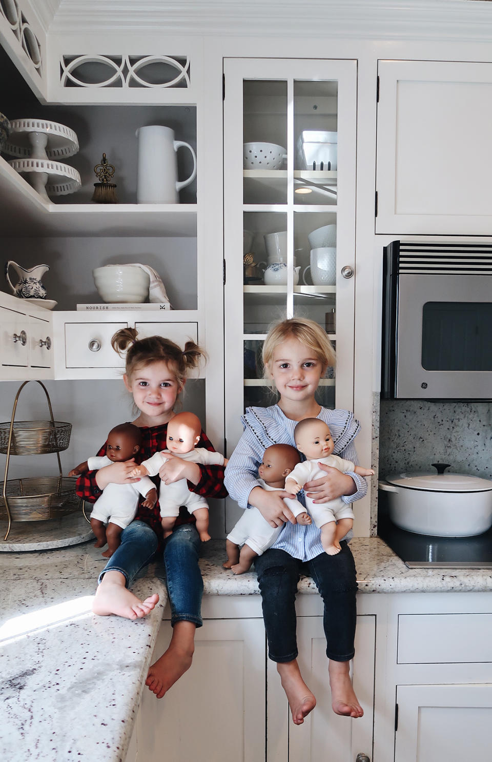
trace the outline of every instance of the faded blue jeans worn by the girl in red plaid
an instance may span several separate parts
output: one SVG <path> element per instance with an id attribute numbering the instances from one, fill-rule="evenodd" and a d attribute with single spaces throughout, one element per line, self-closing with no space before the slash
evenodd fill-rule
<path id="1" fill-rule="evenodd" d="M 173 627 L 180 621 L 202 626 L 203 579 L 198 566 L 201 544 L 193 524 L 181 524 L 165 539 L 164 566 Z M 121 533 L 120 546 L 101 571 L 98 582 L 107 571 L 120 571 L 128 588 L 139 571 L 155 559 L 157 547 L 157 536 L 149 525 L 132 521 Z"/>

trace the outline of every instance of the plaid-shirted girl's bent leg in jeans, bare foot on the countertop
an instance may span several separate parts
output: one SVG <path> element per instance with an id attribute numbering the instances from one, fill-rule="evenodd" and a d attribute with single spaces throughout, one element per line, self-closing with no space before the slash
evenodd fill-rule
<path id="1" fill-rule="evenodd" d="M 132 521 L 120 539 L 120 546 L 99 575 L 92 610 L 100 616 L 116 614 L 135 620 L 146 616 L 159 600 L 157 593 L 140 600 L 128 589 L 140 569 L 152 560 L 158 540 L 143 521 Z"/>

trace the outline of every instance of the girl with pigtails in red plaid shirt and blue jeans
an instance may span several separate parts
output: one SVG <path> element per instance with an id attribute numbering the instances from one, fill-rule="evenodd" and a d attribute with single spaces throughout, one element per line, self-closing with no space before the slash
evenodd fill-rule
<path id="1" fill-rule="evenodd" d="M 113 349 L 126 351 L 123 381 L 131 392 L 136 411 L 133 423 L 142 430 L 139 463 L 154 453 L 165 450 L 168 421 L 174 417 L 177 399 L 186 383 L 187 373 L 195 368 L 203 351 L 187 341 L 184 350 L 161 336 L 137 338 L 134 328 L 126 328 L 113 336 Z M 214 451 L 212 443 L 202 431 L 199 447 Z M 98 454 L 105 452 L 105 444 Z M 77 494 L 94 502 L 110 483 L 131 484 L 139 479 L 129 478 L 134 459 L 125 463 L 112 463 L 95 472 L 79 477 Z M 188 480 L 190 491 L 206 498 L 222 498 L 224 488 L 223 466 L 201 466 L 171 456 L 159 471 L 165 484 Z M 158 482 L 158 480 L 157 480 Z M 202 626 L 200 606 L 203 580 L 198 566 L 200 538 L 194 527 L 193 516 L 184 511 L 175 523 L 173 533 L 162 536 L 161 517 L 157 505 L 153 508 L 139 505 L 135 520 L 121 533 L 121 544 L 101 571 L 94 599 L 94 613 L 105 616 L 117 614 L 137 619 L 149 613 L 158 602 L 153 594 L 139 600 L 129 584 L 136 574 L 156 554 L 162 553 L 169 600 L 171 602 L 171 644 L 149 669 L 146 684 L 158 698 L 186 671 L 191 664 L 196 627 Z"/>

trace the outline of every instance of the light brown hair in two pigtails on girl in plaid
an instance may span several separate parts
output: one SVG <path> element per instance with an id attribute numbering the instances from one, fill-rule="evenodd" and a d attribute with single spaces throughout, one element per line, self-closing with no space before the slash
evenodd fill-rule
<path id="1" fill-rule="evenodd" d="M 121 356 L 126 352 L 125 373 L 129 380 L 137 368 L 161 361 L 167 363 L 174 372 L 181 392 L 187 373 L 198 367 L 200 358 L 206 358 L 206 353 L 194 341 L 187 341 L 183 350 L 174 344 L 174 341 L 163 336 L 137 338 L 137 335 L 136 328 L 121 328 L 111 339 L 111 346 L 115 352 Z"/>

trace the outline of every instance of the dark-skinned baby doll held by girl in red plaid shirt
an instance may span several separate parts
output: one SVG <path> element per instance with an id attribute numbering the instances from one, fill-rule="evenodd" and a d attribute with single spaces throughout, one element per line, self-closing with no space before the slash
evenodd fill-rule
<path id="1" fill-rule="evenodd" d="M 142 432 L 138 426 L 115 426 L 107 435 L 106 455 L 88 458 L 72 469 L 69 476 L 79 476 L 111 463 L 129 460 L 139 452 L 141 442 Z M 108 484 L 95 501 L 91 513 L 91 529 L 97 539 L 94 547 L 102 548 L 107 543 L 107 551 L 103 553 L 106 558 L 113 555 L 120 545 L 120 534 L 133 521 L 139 505 L 139 493 L 145 498 L 145 507 L 154 507 L 157 490 L 150 479 L 141 479 L 133 484 Z"/>

